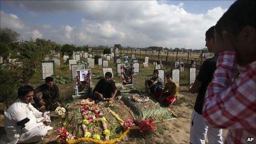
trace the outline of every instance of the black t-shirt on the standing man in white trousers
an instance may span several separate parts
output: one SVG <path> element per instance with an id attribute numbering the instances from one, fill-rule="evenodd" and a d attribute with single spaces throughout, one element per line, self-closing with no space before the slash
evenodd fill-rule
<path id="1" fill-rule="evenodd" d="M 205 93 L 206 93 L 208 84 L 212 80 L 214 71 L 216 70 L 217 60 L 218 60 L 218 55 L 215 55 L 214 57 L 208 58 L 207 60 L 205 60 L 200 67 L 198 76 L 196 77 L 196 80 L 202 83 L 199 88 L 198 97 L 196 97 L 196 101 L 195 101 L 194 110 L 196 111 L 196 113 L 202 114 L 202 106 L 204 104 Z"/>

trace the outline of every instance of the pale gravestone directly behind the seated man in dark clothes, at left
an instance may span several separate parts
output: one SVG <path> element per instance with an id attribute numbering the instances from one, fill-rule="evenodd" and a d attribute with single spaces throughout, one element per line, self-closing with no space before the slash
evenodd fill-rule
<path id="1" fill-rule="evenodd" d="M 42 79 L 45 79 L 46 77 L 50 77 L 55 74 L 54 66 L 54 61 L 41 62 Z"/>

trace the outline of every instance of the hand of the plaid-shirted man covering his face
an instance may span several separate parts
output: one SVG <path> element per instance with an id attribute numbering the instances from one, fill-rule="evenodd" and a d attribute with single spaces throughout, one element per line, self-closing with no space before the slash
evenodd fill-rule
<path id="1" fill-rule="evenodd" d="M 214 51 L 216 53 L 220 53 L 223 51 L 235 51 L 234 46 L 230 39 L 231 34 L 229 34 L 227 30 L 223 30 L 221 34 L 218 34 L 218 32 L 215 30 L 214 36 L 215 36 Z"/>

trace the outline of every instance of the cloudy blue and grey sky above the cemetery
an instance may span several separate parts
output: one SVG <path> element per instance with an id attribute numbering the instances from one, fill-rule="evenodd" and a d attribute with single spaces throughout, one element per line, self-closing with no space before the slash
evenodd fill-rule
<path id="1" fill-rule="evenodd" d="M 234 1 L 2 1 L 0 27 L 20 40 L 77 46 L 205 47 L 205 31 Z"/>

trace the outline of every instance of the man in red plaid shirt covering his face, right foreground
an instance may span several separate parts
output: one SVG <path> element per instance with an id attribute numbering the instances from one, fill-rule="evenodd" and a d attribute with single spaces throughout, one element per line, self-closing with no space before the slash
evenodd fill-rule
<path id="1" fill-rule="evenodd" d="M 210 125 L 228 129 L 225 143 L 256 141 L 255 5 L 255 1 L 234 2 L 215 26 L 220 55 L 202 116 Z M 241 75 L 232 83 L 237 68 Z"/>

